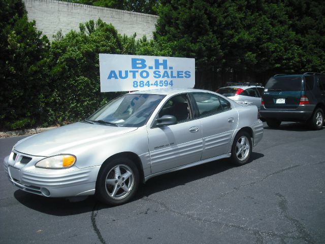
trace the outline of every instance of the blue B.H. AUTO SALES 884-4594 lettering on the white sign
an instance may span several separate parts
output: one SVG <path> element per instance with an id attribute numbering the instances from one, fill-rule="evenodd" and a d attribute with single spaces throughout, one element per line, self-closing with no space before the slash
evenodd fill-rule
<path id="1" fill-rule="evenodd" d="M 140 81 L 133 81 L 133 87 L 144 87 L 144 86 L 173 86 L 173 78 L 190 78 L 191 72 L 181 71 L 177 70 L 174 71 L 173 67 L 168 67 L 167 59 L 159 60 L 154 59 L 154 67 L 153 66 L 147 66 L 146 60 L 143 58 L 131 58 L 131 64 L 132 64 L 132 70 L 111 70 L 107 79 L 113 80 L 113 79 L 137 79 L 137 74 L 141 77 Z M 160 70 L 160 67 L 163 70 Z M 148 70 L 146 70 L 148 68 Z M 152 72 L 152 76 L 154 79 L 160 79 L 160 80 L 145 80 L 150 76 L 150 73 Z"/>

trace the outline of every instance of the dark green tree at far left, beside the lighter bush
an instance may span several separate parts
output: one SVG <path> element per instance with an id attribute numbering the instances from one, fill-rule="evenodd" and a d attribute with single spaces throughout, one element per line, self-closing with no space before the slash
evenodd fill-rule
<path id="1" fill-rule="evenodd" d="M 1 2 L 0 14 L 0 129 L 31 127 L 42 119 L 49 42 L 21 1 Z"/>

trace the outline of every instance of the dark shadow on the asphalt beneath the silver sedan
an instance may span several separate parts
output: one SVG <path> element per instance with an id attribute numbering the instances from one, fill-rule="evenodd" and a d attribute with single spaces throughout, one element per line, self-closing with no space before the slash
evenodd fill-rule
<path id="1" fill-rule="evenodd" d="M 263 154 L 252 152 L 249 163 L 262 157 L 264 157 Z M 234 167 L 236 166 L 233 166 L 228 159 L 223 159 L 159 175 L 149 179 L 145 185 L 140 186 L 138 194 L 132 201 L 137 201 L 144 196 L 182 186 L 188 182 L 218 174 Z M 71 216 L 97 211 L 103 208 L 110 208 L 110 206 L 98 202 L 94 196 L 89 196 L 82 201 L 70 202 L 66 198 L 48 198 L 17 190 L 14 193 L 14 197 L 17 201 L 30 209 L 54 216 Z"/>

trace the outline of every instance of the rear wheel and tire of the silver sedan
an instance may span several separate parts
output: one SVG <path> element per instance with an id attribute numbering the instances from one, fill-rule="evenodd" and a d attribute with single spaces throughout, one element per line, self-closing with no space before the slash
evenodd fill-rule
<path id="1" fill-rule="evenodd" d="M 238 144 L 237 144 L 238 143 Z M 252 154 L 252 140 L 245 131 L 237 133 L 232 145 L 231 162 L 235 165 L 243 165 L 248 162 Z"/>

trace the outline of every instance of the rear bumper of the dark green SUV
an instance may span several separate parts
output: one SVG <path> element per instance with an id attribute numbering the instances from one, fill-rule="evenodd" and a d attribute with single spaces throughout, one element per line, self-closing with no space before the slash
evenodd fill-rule
<path id="1" fill-rule="evenodd" d="M 276 118 L 287 121 L 307 121 L 313 114 L 314 109 L 315 105 L 299 105 L 297 109 L 267 109 L 262 105 L 259 113 L 266 119 Z"/>

